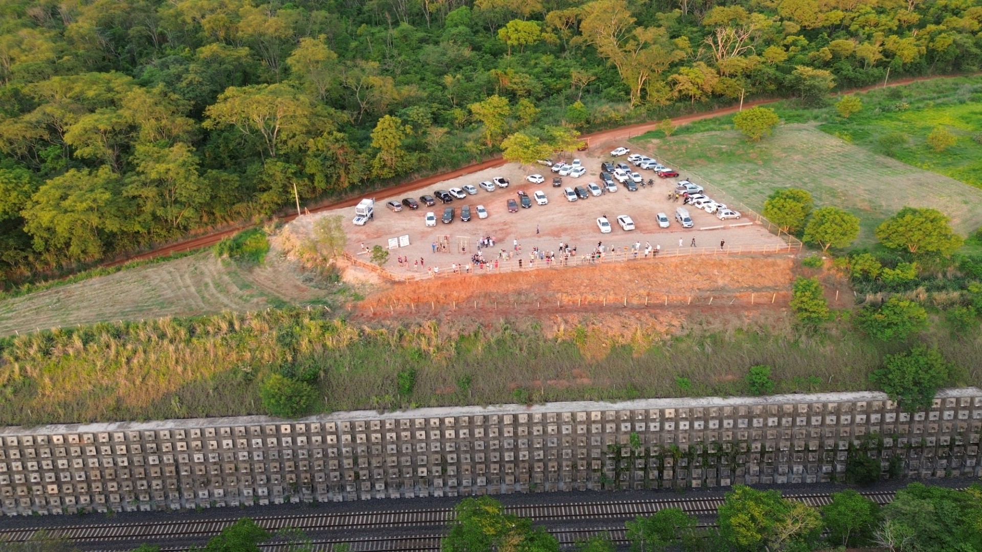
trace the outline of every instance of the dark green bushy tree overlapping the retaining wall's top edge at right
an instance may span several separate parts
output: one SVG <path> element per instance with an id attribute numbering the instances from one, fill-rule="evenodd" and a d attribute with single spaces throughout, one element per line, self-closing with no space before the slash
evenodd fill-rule
<path id="1" fill-rule="evenodd" d="M 880 386 L 904 411 L 931 408 L 938 389 L 945 385 L 952 365 L 937 349 L 919 345 L 906 353 L 889 355 L 884 366 L 875 370 L 870 379 Z"/>

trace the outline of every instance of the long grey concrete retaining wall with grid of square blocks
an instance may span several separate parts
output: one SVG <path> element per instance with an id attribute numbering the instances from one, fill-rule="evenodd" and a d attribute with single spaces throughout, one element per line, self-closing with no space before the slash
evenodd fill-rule
<path id="1" fill-rule="evenodd" d="M 857 447 L 884 476 L 977 476 L 980 433 L 977 388 L 909 414 L 835 393 L 6 427 L 0 512 L 824 482 Z"/>

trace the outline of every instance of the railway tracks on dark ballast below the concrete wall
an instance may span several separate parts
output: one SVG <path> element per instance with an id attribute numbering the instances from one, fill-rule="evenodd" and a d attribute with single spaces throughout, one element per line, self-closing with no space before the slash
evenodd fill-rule
<path id="1" fill-rule="evenodd" d="M 874 491 L 862 493 L 878 504 L 886 504 L 893 500 L 894 491 Z M 831 501 L 829 493 L 814 494 L 788 494 L 785 495 L 792 500 L 798 500 L 809 506 L 820 507 Z M 614 500 L 614 501 L 583 501 L 568 502 L 560 504 L 542 505 L 521 505 L 510 506 L 508 512 L 522 518 L 531 518 L 538 523 L 557 523 L 557 522 L 583 522 L 583 521 L 624 521 L 636 516 L 651 515 L 659 510 L 667 508 L 680 508 L 682 511 L 695 516 L 715 515 L 719 507 L 723 504 L 724 498 L 653 498 L 642 500 Z M 318 531 L 334 530 L 358 530 L 358 529 L 379 529 L 379 528 L 410 528 L 410 529 L 432 529 L 442 531 L 442 528 L 450 520 L 453 510 L 451 508 L 437 509 L 405 509 L 390 510 L 381 512 L 349 512 L 349 513 L 323 513 L 323 514 L 301 514 L 287 516 L 258 516 L 251 518 L 256 524 L 271 532 L 284 528 L 299 528 L 307 533 Z M 23 528 L 0 529 L 0 541 L 23 542 L 30 535 L 39 529 L 44 529 L 51 536 L 70 539 L 78 544 L 107 544 L 122 542 L 159 542 L 168 539 L 205 539 L 214 536 L 231 524 L 236 523 L 240 518 L 221 518 L 199 521 L 163 521 L 155 523 L 139 524 L 72 524 L 60 526 L 34 526 Z M 618 527 L 624 528 L 623 524 Z M 612 527 L 612 530 L 618 527 Z M 562 531 L 561 531 L 562 532 Z M 575 532 L 575 531 L 573 531 Z M 400 539 L 424 539 L 436 538 L 439 541 L 440 535 L 413 536 L 413 537 L 378 537 L 368 539 L 345 538 L 343 540 L 318 540 L 317 542 L 327 546 L 324 550 L 330 549 L 332 543 L 350 542 L 355 540 L 364 542 L 366 548 L 353 550 L 401 550 L 403 548 L 379 548 L 376 545 L 387 546 L 382 541 L 395 545 Z M 575 538 L 573 538 L 575 540 Z M 571 542 L 573 542 L 571 540 Z M 407 541 L 409 542 L 409 541 Z M 423 543 L 419 540 L 419 546 L 407 548 L 407 550 L 429 550 L 429 541 Z M 561 539 L 562 542 L 562 539 Z M 374 543 L 374 544 L 372 544 Z M 277 550 L 277 543 L 269 543 L 270 550 Z M 402 545 L 399 545 L 402 546 Z M 436 548 L 439 548 L 437 542 Z M 174 548 L 173 550 L 183 550 L 185 548 Z"/>

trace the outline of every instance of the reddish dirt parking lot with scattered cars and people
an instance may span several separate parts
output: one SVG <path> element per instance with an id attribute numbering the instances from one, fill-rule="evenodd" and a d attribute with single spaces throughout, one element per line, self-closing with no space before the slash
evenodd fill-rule
<path id="1" fill-rule="evenodd" d="M 758 224 L 731 228 L 733 224 L 750 222 L 752 219 L 720 221 L 715 215 L 691 206 L 688 206 L 688 211 L 692 216 L 694 227 L 683 229 L 675 220 L 676 207 L 681 206 L 682 202 L 670 201 L 668 193 L 675 189 L 676 183 L 684 178 L 684 174 L 680 178 L 659 179 L 651 171 L 638 170 L 645 181 L 654 179 L 653 187 L 629 192 L 625 186 L 618 185 L 616 193 L 605 192 L 599 196 L 590 195 L 586 199 L 568 201 L 563 193 L 565 187 L 585 187 L 590 182 L 600 183 L 600 163 L 611 159 L 609 151 L 613 147 L 607 147 L 608 145 L 610 144 L 600 144 L 590 151 L 581 152 L 583 155 L 579 158 L 587 169 L 586 174 L 575 179 L 563 177 L 563 186 L 559 188 L 552 186 L 552 179 L 557 175 L 550 172 L 549 167 L 533 165 L 523 169 L 518 164 L 512 163 L 441 182 L 410 194 L 376 197 L 375 218 L 364 226 L 355 226 L 352 223 L 355 217 L 354 207 L 303 216 L 291 225 L 308 229 L 315 217 L 340 214 L 343 216 L 344 228 L 348 233 L 347 250 L 360 258 L 368 256 L 362 252 L 362 245 L 364 248 L 372 248 L 376 245 L 387 248 L 390 238 L 409 235 L 409 247 L 394 248 L 390 251 L 390 260 L 385 267 L 394 272 L 427 270 L 433 266 L 443 270 L 450 268 L 454 263 L 458 265 L 466 263 L 470 255 L 476 251 L 478 241 L 487 237 L 493 238 L 496 243 L 494 248 L 485 248 L 483 251 L 484 258 L 489 260 L 496 258 L 496 254 L 501 249 L 514 250 L 516 241 L 521 246 L 522 256 L 527 256 L 528 252 L 536 247 L 545 251 L 555 251 L 560 243 L 576 247 L 577 254 L 580 255 L 589 254 L 598 243 L 602 243 L 607 250 L 611 247 L 623 250 L 626 246 L 638 242 L 643 249 L 646 243 L 650 243 L 652 248 L 661 246 L 663 253 L 672 253 L 678 249 L 688 250 L 693 239 L 696 248 L 719 248 L 721 242 L 725 242 L 724 247 L 732 251 L 750 246 L 784 244 L 780 238 L 768 233 Z M 627 162 L 626 157 L 617 159 Z M 532 184 L 525 180 L 526 175 L 529 174 L 541 174 L 546 181 L 544 184 Z M 511 186 L 490 193 L 477 188 L 476 195 L 467 195 L 464 199 L 455 199 L 452 203 L 448 203 L 446 206 L 453 206 L 456 209 L 456 219 L 451 224 L 440 221 L 445 205 L 439 200 L 431 207 L 420 203 L 416 210 L 404 207 L 400 212 L 393 212 L 385 206 L 385 202 L 391 199 L 402 201 L 404 197 L 411 196 L 418 200 L 420 195 L 432 195 L 436 190 L 463 188 L 467 184 L 476 188 L 481 181 L 490 181 L 499 176 L 508 178 Z M 546 193 L 549 203 L 538 205 L 533 200 L 530 208 L 519 208 L 518 212 L 509 212 L 506 200 L 518 199 L 519 190 L 525 191 L 529 196 L 541 190 Z M 472 220 L 469 222 L 460 220 L 461 207 L 464 205 L 470 205 L 471 208 Z M 477 205 L 484 205 L 487 209 L 486 219 L 477 218 L 474 210 Z M 428 211 L 436 214 L 436 227 L 425 226 L 424 218 Z M 659 212 L 666 213 L 671 219 L 669 228 L 658 227 L 656 215 Z M 635 230 L 621 229 L 616 219 L 623 214 L 629 215 L 634 221 Z M 610 220 L 612 226 L 610 234 L 600 233 L 596 223 L 597 217 L 600 216 L 607 216 Z M 701 227 L 720 225 L 724 227 L 699 230 Z M 448 245 L 447 251 L 440 252 L 439 244 L 444 238 Z M 465 250 L 462 250 L 462 244 L 465 244 Z M 434 252 L 434 245 L 437 245 L 437 252 Z M 398 256 L 408 258 L 409 263 L 401 268 L 397 262 Z M 424 262 L 424 267 L 414 265 L 414 261 L 419 259 Z"/>

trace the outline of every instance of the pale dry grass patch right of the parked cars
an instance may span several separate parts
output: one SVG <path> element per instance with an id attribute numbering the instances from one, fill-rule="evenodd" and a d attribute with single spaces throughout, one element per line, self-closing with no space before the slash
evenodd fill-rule
<path id="1" fill-rule="evenodd" d="M 982 225 L 982 190 L 901 163 L 813 124 L 783 125 L 774 136 L 748 143 L 736 131 L 635 139 L 635 150 L 681 167 L 750 208 L 760 210 L 777 188 L 801 188 L 816 206 L 835 205 L 861 220 L 857 246 L 875 242 L 873 230 L 905 205 L 933 207 L 952 218 L 962 235 Z"/>

